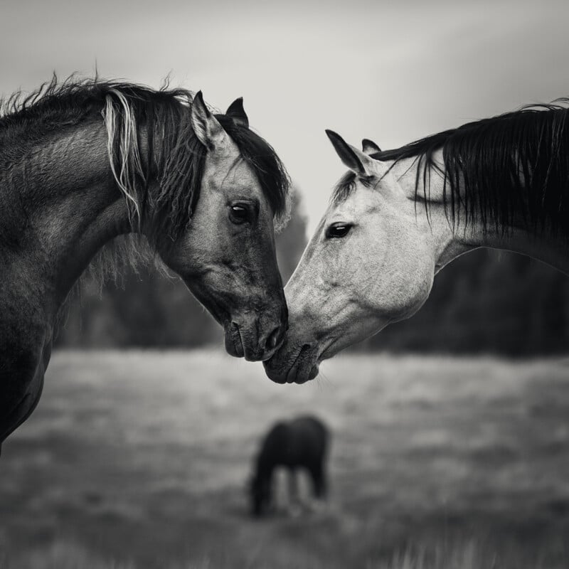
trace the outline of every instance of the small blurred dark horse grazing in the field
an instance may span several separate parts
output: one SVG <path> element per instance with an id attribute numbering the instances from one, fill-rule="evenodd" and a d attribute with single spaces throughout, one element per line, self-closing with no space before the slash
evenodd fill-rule
<path id="1" fill-rule="evenodd" d="M 255 459 L 250 495 L 252 513 L 260 516 L 271 504 L 276 467 L 289 469 L 289 499 L 296 493 L 296 469 L 307 469 L 316 498 L 326 496 L 326 456 L 330 435 L 315 417 L 299 417 L 273 425 Z"/>

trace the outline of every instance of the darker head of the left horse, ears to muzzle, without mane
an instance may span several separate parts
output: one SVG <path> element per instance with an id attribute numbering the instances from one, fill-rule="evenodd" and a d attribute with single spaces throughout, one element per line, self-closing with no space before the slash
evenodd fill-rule
<path id="1" fill-rule="evenodd" d="M 273 225 L 286 208 L 287 174 L 272 147 L 248 128 L 240 99 L 225 115 L 213 115 L 198 93 L 191 127 L 203 158 L 198 196 L 189 223 L 157 247 L 223 325 L 228 353 L 264 360 L 287 326 Z"/>

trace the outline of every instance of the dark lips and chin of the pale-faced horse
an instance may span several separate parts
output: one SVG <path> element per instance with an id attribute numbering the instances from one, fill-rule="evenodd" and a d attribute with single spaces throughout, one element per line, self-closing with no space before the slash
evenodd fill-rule
<path id="1" fill-rule="evenodd" d="M 265 361 L 265 373 L 275 383 L 306 383 L 319 373 L 317 346 L 304 344 L 294 352 L 277 351 Z"/>

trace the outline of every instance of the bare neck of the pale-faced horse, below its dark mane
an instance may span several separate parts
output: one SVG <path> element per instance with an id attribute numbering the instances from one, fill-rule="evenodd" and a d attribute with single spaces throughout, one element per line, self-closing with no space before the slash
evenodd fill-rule
<path id="1" fill-rule="evenodd" d="M 567 240 L 545 229 L 524 227 L 523 223 L 484 224 L 481 216 L 467 215 L 463 203 L 457 203 L 456 200 L 452 205 L 450 203 L 448 179 L 445 188 L 445 165 L 441 152 L 435 155 L 435 161 L 440 171 L 431 169 L 427 179 L 424 178 L 424 171 L 416 157 L 398 161 L 392 172 L 408 199 L 415 201 L 417 216 L 430 234 L 426 238 L 435 248 L 437 272 L 459 255 L 486 247 L 528 255 L 569 275 Z M 495 191 L 501 189 L 496 188 Z M 512 218 L 516 219 L 516 216 Z"/>

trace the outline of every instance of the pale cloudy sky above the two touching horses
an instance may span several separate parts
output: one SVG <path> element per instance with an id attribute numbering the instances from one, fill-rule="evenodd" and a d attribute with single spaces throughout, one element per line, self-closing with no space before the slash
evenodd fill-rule
<path id="1" fill-rule="evenodd" d="M 398 147 L 569 95 L 569 1 L 0 0 L 0 93 L 77 71 L 243 96 L 312 230 L 344 172 L 324 129 Z"/>

